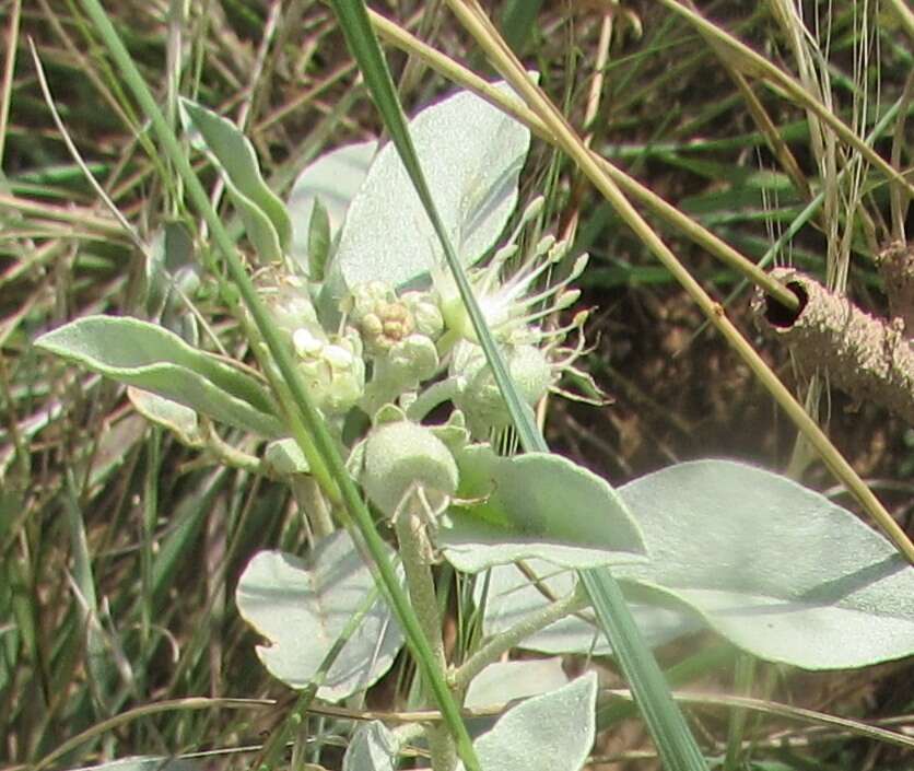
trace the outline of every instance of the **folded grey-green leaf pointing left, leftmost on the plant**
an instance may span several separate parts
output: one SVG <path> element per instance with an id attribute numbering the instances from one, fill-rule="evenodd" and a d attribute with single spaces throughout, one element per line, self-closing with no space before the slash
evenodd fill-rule
<path id="1" fill-rule="evenodd" d="M 43 335 L 35 346 L 245 431 L 284 433 L 266 386 L 139 318 L 86 316 Z"/>

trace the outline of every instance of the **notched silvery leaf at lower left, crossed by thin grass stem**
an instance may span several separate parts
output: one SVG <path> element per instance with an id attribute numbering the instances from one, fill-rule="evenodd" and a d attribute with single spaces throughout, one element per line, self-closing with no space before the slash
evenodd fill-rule
<path id="1" fill-rule="evenodd" d="M 260 551 L 245 568 L 238 612 L 270 641 L 257 654 L 273 677 L 306 687 L 350 620 L 365 610 L 375 583 L 349 535 L 320 540 L 306 560 Z M 375 599 L 321 681 L 317 696 L 339 701 L 374 684 L 394 662 L 403 636 L 386 603 Z"/>

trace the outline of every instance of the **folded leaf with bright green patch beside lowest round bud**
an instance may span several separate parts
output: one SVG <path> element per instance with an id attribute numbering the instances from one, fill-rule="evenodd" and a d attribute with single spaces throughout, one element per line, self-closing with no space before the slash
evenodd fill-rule
<path id="1" fill-rule="evenodd" d="M 438 530 L 445 559 L 476 573 L 540 557 L 566 568 L 644 559 L 625 504 L 604 480 L 549 453 L 499 457 L 488 446 L 457 456 L 460 499 Z"/>

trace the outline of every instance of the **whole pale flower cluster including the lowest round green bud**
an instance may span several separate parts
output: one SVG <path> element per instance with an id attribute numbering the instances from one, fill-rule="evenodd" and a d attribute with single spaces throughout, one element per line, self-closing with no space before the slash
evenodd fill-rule
<path id="1" fill-rule="evenodd" d="M 586 312 L 558 324 L 577 302 L 571 289 L 587 264 L 567 264 L 569 244 L 546 237 L 520 257 L 524 226 L 539 213 L 535 201 L 508 245 L 480 268 L 467 271 L 484 322 L 501 347 L 517 393 L 531 407 L 584 351 Z M 368 498 L 395 516 L 412 497 L 441 511 L 457 489 L 450 444 L 437 433 L 489 441 L 509 425 L 504 399 L 449 273 L 436 270 L 425 291 L 397 291 L 384 281 L 351 287 L 335 308 L 333 331 L 321 325 L 307 289 L 296 278 L 272 276 L 263 292 L 297 355 L 318 407 L 330 418 L 360 408 L 374 428 L 350 462 Z M 577 343 L 565 347 L 570 335 Z M 559 392 L 563 393 L 563 392 Z M 446 427 L 423 424 L 449 402 Z M 340 423 L 341 424 L 341 423 Z M 456 443 L 457 445 L 460 442 Z"/>

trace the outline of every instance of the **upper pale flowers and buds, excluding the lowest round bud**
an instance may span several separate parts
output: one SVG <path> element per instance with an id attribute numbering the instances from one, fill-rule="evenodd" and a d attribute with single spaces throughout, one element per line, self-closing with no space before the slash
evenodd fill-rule
<path id="1" fill-rule="evenodd" d="M 583 341 L 586 312 L 565 326 L 555 322 L 577 302 L 571 289 L 587 264 L 577 257 L 560 280 L 553 273 L 567 261 L 569 244 L 548 236 L 524 258 L 518 242 L 540 212 L 537 199 L 508 240 L 481 268 L 467 271 L 485 324 L 501 346 L 520 397 L 535 406 L 555 389 L 562 374 L 584 351 L 563 346 L 576 332 Z M 317 405 L 328 417 L 353 407 L 374 417 L 396 405 L 421 421 L 445 401 L 459 410 L 470 434 L 485 441 L 509 423 L 504 399 L 479 344 L 476 330 L 449 273 L 433 272 L 426 291 L 403 291 L 383 281 L 349 289 L 339 303 L 341 319 L 327 331 L 296 277 L 270 274 L 262 282 L 273 315 L 289 336 Z"/>

